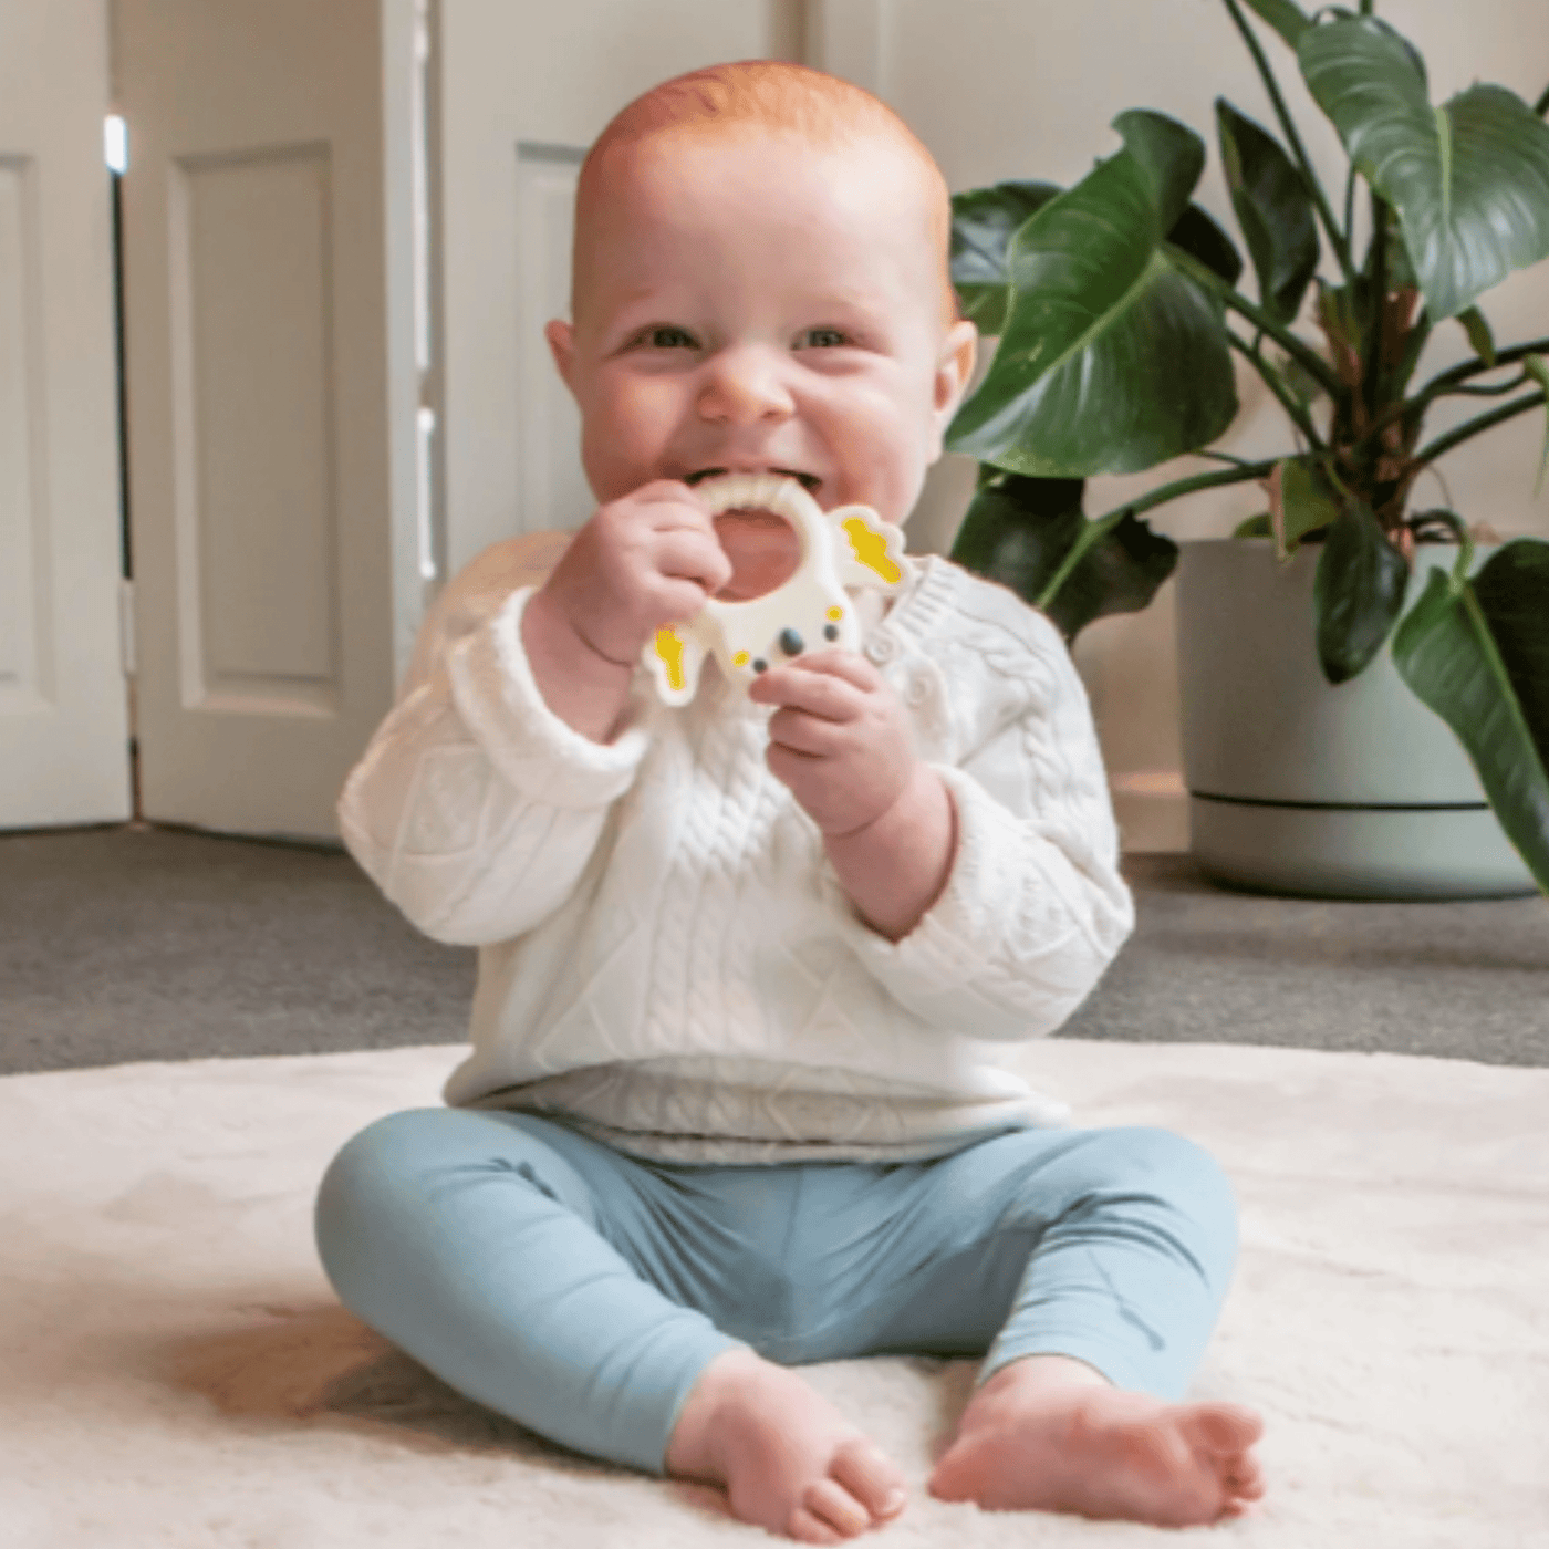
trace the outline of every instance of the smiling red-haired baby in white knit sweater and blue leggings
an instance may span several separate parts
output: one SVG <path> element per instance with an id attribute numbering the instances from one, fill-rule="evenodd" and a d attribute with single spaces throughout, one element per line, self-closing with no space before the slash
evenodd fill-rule
<path id="1" fill-rule="evenodd" d="M 339 1297 L 522 1425 L 807 1543 L 908 1490 L 792 1368 L 884 1351 L 985 1357 L 942 1499 L 1183 1526 L 1262 1493 L 1258 1416 L 1183 1402 L 1236 1252 L 1219 1168 L 1069 1128 L 1015 1069 L 1132 925 L 1053 626 L 905 556 L 850 593 L 861 652 L 748 689 L 708 661 L 683 705 L 641 666 L 796 567 L 717 480 L 908 517 L 974 359 L 950 225 L 923 146 L 818 71 L 626 107 L 547 328 L 598 508 L 542 586 L 496 545 L 446 589 L 339 807 L 387 897 L 480 948 L 449 1106 L 322 1183 Z"/>

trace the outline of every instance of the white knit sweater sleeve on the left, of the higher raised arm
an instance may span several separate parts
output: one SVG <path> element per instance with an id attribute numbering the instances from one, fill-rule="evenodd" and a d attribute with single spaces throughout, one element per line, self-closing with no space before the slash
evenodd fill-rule
<path id="1" fill-rule="evenodd" d="M 606 745 L 548 709 L 522 649 L 533 587 L 497 582 L 486 551 L 432 609 L 338 809 L 387 898 L 465 946 L 520 936 L 570 897 L 647 740 L 638 702 Z"/>

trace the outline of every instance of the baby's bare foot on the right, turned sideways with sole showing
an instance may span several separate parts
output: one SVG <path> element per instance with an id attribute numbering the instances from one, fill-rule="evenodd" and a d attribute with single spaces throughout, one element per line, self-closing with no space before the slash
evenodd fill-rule
<path id="1" fill-rule="evenodd" d="M 1262 1430 L 1238 1403 L 1168 1403 L 1035 1355 L 974 1394 L 929 1490 L 987 1510 L 1193 1527 L 1241 1516 L 1264 1493 L 1252 1453 Z"/>

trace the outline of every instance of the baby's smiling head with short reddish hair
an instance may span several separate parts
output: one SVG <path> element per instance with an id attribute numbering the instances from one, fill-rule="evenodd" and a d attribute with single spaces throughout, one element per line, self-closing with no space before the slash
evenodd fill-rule
<path id="1" fill-rule="evenodd" d="M 576 191 L 548 342 L 599 502 L 654 479 L 796 474 L 902 524 L 973 369 L 929 152 L 860 87 L 773 60 L 630 102 Z"/>

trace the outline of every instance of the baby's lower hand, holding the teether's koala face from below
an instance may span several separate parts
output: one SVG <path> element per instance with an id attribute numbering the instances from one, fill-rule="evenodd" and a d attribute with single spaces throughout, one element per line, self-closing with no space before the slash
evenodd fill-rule
<path id="1" fill-rule="evenodd" d="M 920 762 L 898 696 L 853 651 L 815 651 L 770 668 L 748 699 L 770 717 L 768 767 L 829 838 L 874 823 Z"/>

